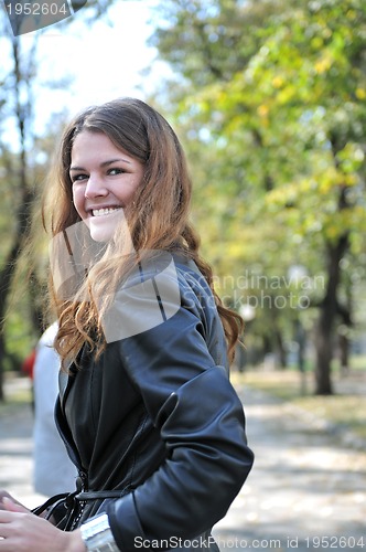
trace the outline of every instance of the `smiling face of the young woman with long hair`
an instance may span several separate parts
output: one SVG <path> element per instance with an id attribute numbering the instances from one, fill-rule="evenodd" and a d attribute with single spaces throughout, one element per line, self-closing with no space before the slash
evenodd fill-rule
<path id="1" fill-rule="evenodd" d="M 104 132 L 82 131 L 72 149 L 69 177 L 76 211 L 96 242 L 107 242 L 134 191 L 143 164 L 117 148 Z"/>

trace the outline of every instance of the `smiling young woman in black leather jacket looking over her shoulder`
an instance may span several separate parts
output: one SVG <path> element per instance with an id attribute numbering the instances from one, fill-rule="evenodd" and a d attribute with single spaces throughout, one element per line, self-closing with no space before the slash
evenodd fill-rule
<path id="1" fill-rule="evenodd" d="M 211 528 L 252 453 L 227 375 L 240 320 L 213 290 L 190 199 L 181 145 L 143 102 L 65 130 L 44 216 L 56 422 L 79 477 L 34 512 L 6 497 L 0 552 L 217 551 Z"/>

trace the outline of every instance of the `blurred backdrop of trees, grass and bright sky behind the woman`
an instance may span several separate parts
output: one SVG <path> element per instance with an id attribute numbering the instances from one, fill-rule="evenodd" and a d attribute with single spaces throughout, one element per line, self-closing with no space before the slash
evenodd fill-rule
<path id="1" fill-rule="evenodd" d="M 90 0 L 0 25 L 0 400 L 44 327 L 46 241 L 23 253 L 61 129 L 133 95 L 184 145 L 204 256 L 246 320 L 238 384 L 365 443 L 365 2 Z"/>

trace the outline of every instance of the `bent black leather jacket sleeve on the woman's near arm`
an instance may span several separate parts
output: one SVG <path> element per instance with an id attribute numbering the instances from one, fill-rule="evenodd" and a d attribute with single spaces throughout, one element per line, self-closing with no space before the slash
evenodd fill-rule
<path id="1" fill-rule="evenodd" d="M 174 316 L 119 341 L 120 362 L 168 450 L 151 477 L 109 506 L 122 551 L 136 550 L 136 538 L 190 539 L 211 529 L 250 471 L 241 403 L 207 348 L 219 323 L 211 309 L 183 289 Z"/>

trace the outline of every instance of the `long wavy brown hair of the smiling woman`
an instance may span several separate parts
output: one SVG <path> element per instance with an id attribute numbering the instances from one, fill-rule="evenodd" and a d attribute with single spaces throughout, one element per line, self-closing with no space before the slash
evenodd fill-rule
<path id="1" fill-rule="evenodd" d="M 152 107 L 139 99 L 121 98 L 90 107 L 72 120 L 62 137 L 46 187 L 45 229 L 53 237 L 65 236 L 67 229 L 80 223 L 73 204 L 69 167 L 74 140 L 86 130 L 104 132 L 116 147 L 143 164 L 144 176 L 133 197 L 133 208 L 125 210 L 133 247 L 137 252 L 175 252 L 196 263 L 213 290 L 228 354 L 233 358 L 243 321 L 222 304 L 214 290 L 212 269 L 198 254 L 200 238 L 189 222 L 192 183 L 185 156 L 171 126 Z M 85 342 L 97 354 L 103 351 L 106 340 L 100 325 L 100 305 L 97 308 L 93 300 L 94 287 L 110 289 L 111 275 L 115 285 L 123 276 L 126 266 L 116 262 L 116 251 L 122 250 L 122 243 L 123 240 L 115 240 L 114 247 L 109 244 L 105 247 L 100 261 L 87 278 L 77 284 L 73 297 L 60 295 L 54 279 L 50 278 L 50 295 L 60 322 L 55 349 L 63 361 L 74 360 Z"/>

